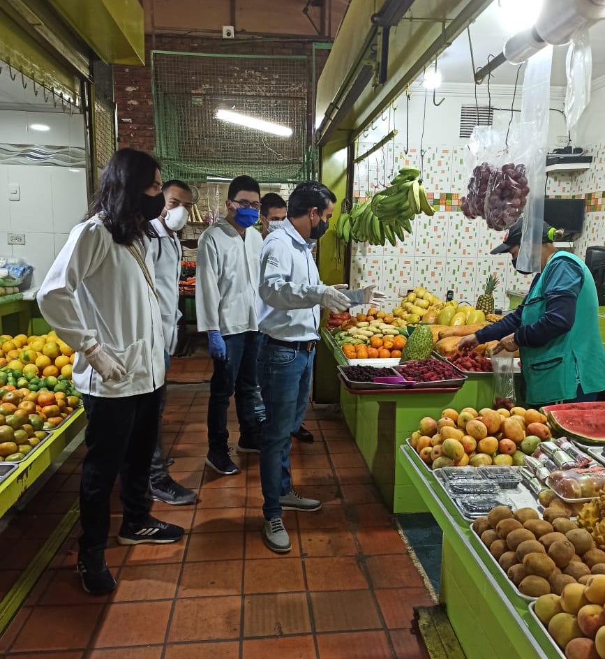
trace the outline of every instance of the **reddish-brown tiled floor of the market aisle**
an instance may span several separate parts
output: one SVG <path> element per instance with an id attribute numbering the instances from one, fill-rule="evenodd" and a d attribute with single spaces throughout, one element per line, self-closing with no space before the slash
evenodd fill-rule
<path id="1" fill-rule="evenodd" d="M 184 542 L 118 546 L 116 494 L 107 559 L 117 591 L 111 598 L 82 592 L 75 528 L 0 639 L 0 653 L 22 659 L 428 658 L 411 625 L 412 608 L 430 605 L 431 596 L 341 418 L 308 413 L 306 427 L 316 440 L 294 445 L 293 476 L 324 508 L 285 513 L 292 553 L 277 556 L 260 536 L 257 457 L 237 457 L 243 471 L 234 477 L 204 470 L 207 404 L 202 387 L 170 388 L 165 439 L 175 459 L 172 475 L 201 486 L 200 503 L 156 503 L 154 510 L 187 528 Z M 64 494 L 59 489 L 54 496 Z"/>

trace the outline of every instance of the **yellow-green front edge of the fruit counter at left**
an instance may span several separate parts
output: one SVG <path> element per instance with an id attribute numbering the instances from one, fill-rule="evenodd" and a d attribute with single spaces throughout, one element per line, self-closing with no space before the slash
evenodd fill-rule
<path id="1" fill-rule="evenodd" d="M 86 413 L 80 407 L 59 428 L 53 430 L 51 436 L 36 450 L 29 453 L 13 473 L 0 482 L 0 517 L 19 501 L 33 482 L 59 457 L 86 422 Z"/>

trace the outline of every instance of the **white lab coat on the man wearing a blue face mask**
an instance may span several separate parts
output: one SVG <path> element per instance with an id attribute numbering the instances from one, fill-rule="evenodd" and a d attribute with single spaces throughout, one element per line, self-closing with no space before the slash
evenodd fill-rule
<path id="1" fill-rule="evenodd" d="M 262 237 L 254 227 L 245 235 L 244 240 L 221 219 L 200 236 L 195 277 L 198 332 L 220 330 L 229 336 L 258 330 Z"/>

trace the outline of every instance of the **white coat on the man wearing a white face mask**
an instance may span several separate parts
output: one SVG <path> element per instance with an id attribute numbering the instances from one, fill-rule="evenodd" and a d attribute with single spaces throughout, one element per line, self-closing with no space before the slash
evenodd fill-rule
<path id="1" fill-rule="evenodd" d="M 170 235 L 160 220 L 151 220 L 159 238 L 151 238 L 149 253 L 156 270 L 156 291 L 160 298 L 164 348 L 169 355 L 177 349 L 177 323 L 183 315 L 179 310 L 179 277 L 183 251 L 176 235 Z M 161 243 L 161 246 L 160 246 Z"/>

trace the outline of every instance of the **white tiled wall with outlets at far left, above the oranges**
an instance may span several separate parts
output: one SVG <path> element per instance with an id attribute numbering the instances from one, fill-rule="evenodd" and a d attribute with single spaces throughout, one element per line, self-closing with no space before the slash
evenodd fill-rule
<path id="1" fill-rule="evenodd" d="M 33 131 L 43 124 L 48 131 Z M 82 116 L 54 112 L 0 112 L 0 144 L 84 147 Z M 20 186 L 20 200 L 8 200 L 8 184 Z M 7 164 L 0 158 L 0 255 L 33 265 L 39 286 L 71 228 L 88 205 L 86 172 L 81 167 Z M 9 245 L 8 233 L 25 235 L 24 245 Z"/>

